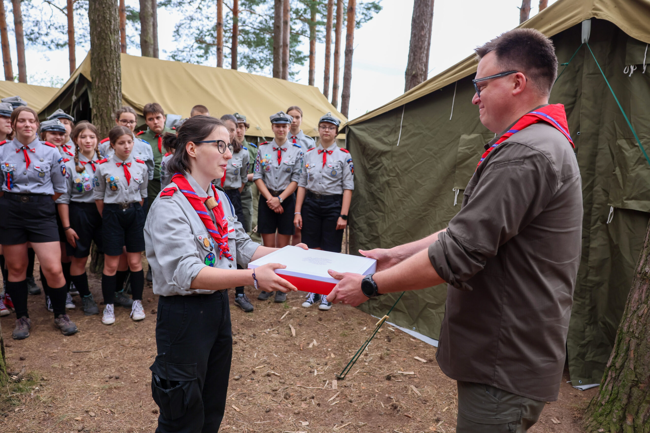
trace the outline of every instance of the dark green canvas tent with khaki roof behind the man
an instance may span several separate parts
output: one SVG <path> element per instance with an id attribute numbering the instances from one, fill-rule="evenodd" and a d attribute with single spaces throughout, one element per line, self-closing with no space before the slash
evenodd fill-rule
<path id="1" fill-rule="evenodd" d="M 593 56 L 650 151 L 650 1 L 559 0 L 521 27 L 555 44 L 563 73 L 551 103 L 565 105 L 582 175 L 582 258 L 567 350 L 572 383 L 584 387 L 601 381 L 623 314 L 650 217 L 650 166 L 587 45 L 580 45 L 590 33 Z M 494 137 L 471 104 L 475 73 L 471 55 L 346 125 L 356 169 L 350 251 L 417 240 L 444 229 L 458 212 Z M 382 317 L 397 295 L 361 308 Z M 407 292 L 391 321 L 438 338 L 445 297 L 445 286 Z"/>

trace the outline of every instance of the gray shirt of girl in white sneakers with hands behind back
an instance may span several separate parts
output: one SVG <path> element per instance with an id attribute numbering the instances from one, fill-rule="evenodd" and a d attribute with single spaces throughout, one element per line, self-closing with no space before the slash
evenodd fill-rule
<path id="1" fill-rule="evenodd" d="M 127 182 L 124 175 L 124 164 L 131 173 L 131 181 Z M 147 197 L 147 185 L 149 173 L 143 161 L 129 155 L 127 160 L 122 161 L 116 155 L 109 160 L 103 159 L 95 171 L 94 182 L 96 184 L 93 192 L 93 199 L 103 200 L 105 204 L 124 204 L 142 201 Z"/>

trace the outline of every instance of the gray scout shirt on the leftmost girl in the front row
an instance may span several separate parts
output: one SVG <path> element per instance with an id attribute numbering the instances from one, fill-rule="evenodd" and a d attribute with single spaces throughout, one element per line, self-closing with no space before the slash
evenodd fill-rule
<path id="1" fill-rule="evenodd" d="M 29 157 L 29 167 L 25 159 Z M 66 165 L 53 144 L 38 138 L 23 146 L 16 138 L 0 145 L 0 181 L 2 190 L 16 194 L 66 192 Z"/>

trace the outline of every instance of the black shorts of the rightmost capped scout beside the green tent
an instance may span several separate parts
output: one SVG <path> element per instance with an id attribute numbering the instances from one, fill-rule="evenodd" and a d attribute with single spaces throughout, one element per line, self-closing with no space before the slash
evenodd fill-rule
<path id="1" fill-rule="evenodd" d="M 309 248 L 341 253 L 343 229 L 336 229 L 341 215 L 343 195 L 326 195 L 320 199 L 307 192 L 302 204 L 302 242 Z"/>

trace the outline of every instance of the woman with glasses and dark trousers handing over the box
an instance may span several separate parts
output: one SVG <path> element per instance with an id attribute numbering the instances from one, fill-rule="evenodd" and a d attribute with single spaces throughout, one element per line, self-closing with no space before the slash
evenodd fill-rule
<path id="1" fill-rule="evenodd" d="M 175 174 L 151 204 L 144 227 L 153 293 L 160 295 L 158 355 L 150 367 L 160 407 L 156 431 L 216 432 L 232 358 L 227 288 L 296 288 L 274 273 L 281 264 L 237 269 L 275 249 L 250 240 L 226 193 L 211 184 L 232 158 L 224 123 L 194 116 L 163 140 L 175 149 L 168 163 Z"/>

